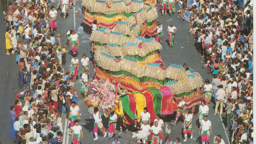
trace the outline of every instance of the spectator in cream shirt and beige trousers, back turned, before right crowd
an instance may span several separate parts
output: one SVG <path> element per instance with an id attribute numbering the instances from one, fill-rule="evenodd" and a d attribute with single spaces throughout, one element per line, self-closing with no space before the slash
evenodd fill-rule
<path id="1" fill-rule="evenodd" d="M 225 92 L 225 90 L 223 89 L 223 86 L 222 86 L 222 85 L 219 85 L 219 89 L 218 89 L 218 91 L 217 91 L 217 93 L 216 93 L 216 96 L 217 96 L 217 102 L 216 102 L 216 105 L 215 105 L 214 115 L 217 114 L 219 105 L 220 105 L 219 115 L 222 115 L 223 102 L 224 102 L 224 98 L 225 98 L 225 96 L 226 96 L 226 92 Z"/>

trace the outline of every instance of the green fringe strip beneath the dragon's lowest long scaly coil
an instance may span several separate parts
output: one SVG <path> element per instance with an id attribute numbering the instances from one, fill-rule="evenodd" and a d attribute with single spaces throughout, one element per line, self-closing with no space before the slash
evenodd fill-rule
<path id="1" fill-rule="evenodd" d="M 107 70 L 107 69 L 102 69 L 101 67 L 98 67 L 98 68 L 101 69 L 102 71 L 105 70 L 106 73 L 108 73 L 110 75 L 128 75 L 129 77 L 134 78 L 138 82 L 146 82 L 146 81 L 149 81 L 151 79 L 153 82 L 159 83 L 161 85 L 165 85 L 165 83 L 168 83 L 168 82 L 172 81 L 172 79 L 168 79 L 168 78 L 165 79 L 165 80 L 158 80 L 158 79 L 152 78 L 152 77 L 137 77 L 137 76 L 132 75 L 131 73 L 126 72 L 126 71 L 113 72 L 113 71 L 110 71 L 110 70 Z"/>

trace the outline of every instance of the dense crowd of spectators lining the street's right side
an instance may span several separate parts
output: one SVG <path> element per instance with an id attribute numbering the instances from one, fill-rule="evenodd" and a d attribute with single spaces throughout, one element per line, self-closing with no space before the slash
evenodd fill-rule
<path id="1" fill-rule="evenodd" d="M 213 75 L 207 85 L 214 115 L 222 116 L 232 144 L 253 143 L 253 1 L 177 2 L 178 17 L 188 21 L 206 61 L 203 69 Z"/>

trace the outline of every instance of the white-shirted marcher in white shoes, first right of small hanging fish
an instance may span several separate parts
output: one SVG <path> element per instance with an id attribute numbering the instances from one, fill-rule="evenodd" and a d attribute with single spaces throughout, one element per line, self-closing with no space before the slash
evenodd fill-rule
<path id="1" fill-rule="evenodd" d="M 192 134 L 192 119 L 193 119 L 193 115 L 191 114 L 191 111 L 189 108 L 186 109 L 186 113 L 185 113 L 185 119 L 184 122 L 182 124 L 183 126 L 183 133 L 184 133 L 184 142 L 187 141 L 187 137 L 188 137 L 188 133 L 190 134 L 190 138 L 193 138 L 193 134 Z"/>

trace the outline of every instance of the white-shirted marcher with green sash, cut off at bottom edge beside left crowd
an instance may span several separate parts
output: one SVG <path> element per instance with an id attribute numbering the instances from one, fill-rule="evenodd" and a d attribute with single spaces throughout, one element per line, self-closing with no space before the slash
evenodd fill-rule
<path id="1" fill-rule="evenodd" d="M 75 120 L 75 125 L 72 126 L 71 140 L 73 143 L 80 143 L 81 138 L 83 139 L 82 126 L 78 125 L 79 121 Z M 75 142 L 76 141 L 76 142 Z"/>

